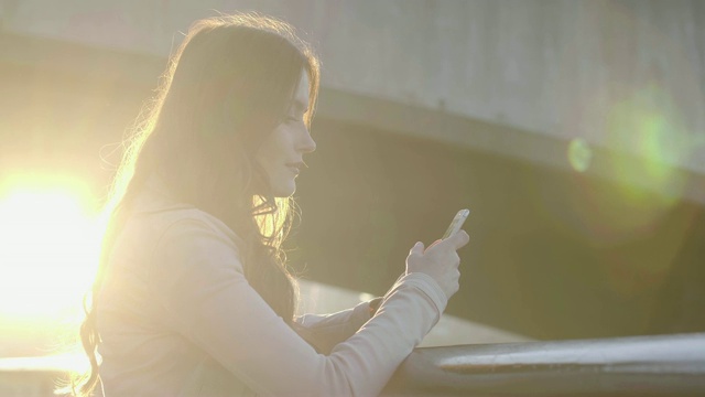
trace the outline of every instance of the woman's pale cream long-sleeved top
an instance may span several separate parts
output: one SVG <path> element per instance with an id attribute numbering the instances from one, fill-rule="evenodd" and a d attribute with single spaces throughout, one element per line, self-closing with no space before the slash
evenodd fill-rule
<path id="1" fill-rule="evenodd" d="M 372 318 L 364 302 L 289 326 L 248 283 L 239 245 L 219 219 L 145 189 L 97 297 L 106 397 L 376 396 L 447 302 L 412 272 Z"/>

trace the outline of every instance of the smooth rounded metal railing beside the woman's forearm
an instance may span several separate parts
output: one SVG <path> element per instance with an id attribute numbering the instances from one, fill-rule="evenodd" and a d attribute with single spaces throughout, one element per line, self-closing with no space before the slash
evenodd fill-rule
<path id="1" fill-rule="evenodd" d="M 705 333 L 416 348 L 384 396 L 705 396 Z"/>

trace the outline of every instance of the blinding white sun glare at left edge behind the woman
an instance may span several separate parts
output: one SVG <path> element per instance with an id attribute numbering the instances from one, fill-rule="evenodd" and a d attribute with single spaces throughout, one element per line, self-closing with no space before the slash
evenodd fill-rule
<path id="1" fill-rule="evenodd" d="M 95 275 L 101 227 L 80 184 L 14 178 L 0 191 L 0 318 L 75 312 Z"/>

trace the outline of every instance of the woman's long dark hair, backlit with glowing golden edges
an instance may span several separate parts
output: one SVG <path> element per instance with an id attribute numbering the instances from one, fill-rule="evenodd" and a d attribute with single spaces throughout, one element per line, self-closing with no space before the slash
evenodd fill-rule
<path id="1" fill-rule="evenodd" d="M 318 61 L 289 24 L 247 13 L 192 25 L 135 124 L 112 185 L 98 272 L 80 326 L 91 368 L 72 382 L 70 393 L 90 395 L 99 382 L 97 297 L 113 242 L 154 174 L 175 198 L 218 217 L 242 238 L 248 281 L 291 323 L 296 289 L 281 243 L 293 202 L 269 192 L 253 153 L 285 117 L 302 71 L 310 76 L 310 125 Z"/>

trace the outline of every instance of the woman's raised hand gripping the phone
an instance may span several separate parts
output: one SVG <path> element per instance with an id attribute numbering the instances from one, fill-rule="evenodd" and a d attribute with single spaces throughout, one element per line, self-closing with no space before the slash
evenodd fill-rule
<path id="1" fill-rule="evenodd" d="M 460 288 L 458 283 L 460 257 L 457 250 L 469 240 L 467 233 L 459 230 L 444 240 L 433 243 L 426 249 L 423 243 L 416 243 L 406 257 L 406 273 L 419 271 L 431 276 L 451 299 Z"/>

